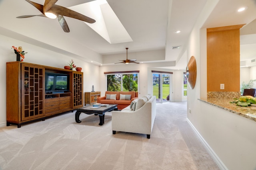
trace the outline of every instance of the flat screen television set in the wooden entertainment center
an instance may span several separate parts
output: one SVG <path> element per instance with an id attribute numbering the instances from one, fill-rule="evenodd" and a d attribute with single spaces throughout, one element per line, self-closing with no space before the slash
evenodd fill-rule
<path id="1" fill-rule="evenodd" d="M 69 91 L 69 75 L 45 72 L 45 92 L 66 92 Z"/>

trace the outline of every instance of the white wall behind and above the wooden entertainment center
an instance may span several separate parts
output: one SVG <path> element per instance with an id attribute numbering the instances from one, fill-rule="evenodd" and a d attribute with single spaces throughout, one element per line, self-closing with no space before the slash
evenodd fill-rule
<path id="1" fill-rule="evenodd" d="M 25 52 L 28 52 L 24 59 L 26 63 L 64 68 L 68 61 L 73 59 L 54 51 L 0 35 L 0 68 L 2 68 L 0 74 L 0 80 L 2 80 L 0 81 L 0 127 L 6 126 L 6 62 L 16 61 L 16 54 L 11 49 L 12 46 L 21 46 Z M 82 72 L 84 72 L 84 92 L 92 91 L 92 85 L 94 85 L 94 89 L 98 89 L 99 67 L 79 59 L 74 59 L 74 62 L 76 66 L 82 67 Z"/>

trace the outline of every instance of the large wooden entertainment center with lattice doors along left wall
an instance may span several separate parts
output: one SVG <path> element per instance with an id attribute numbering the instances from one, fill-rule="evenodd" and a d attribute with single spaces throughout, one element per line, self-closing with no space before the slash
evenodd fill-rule
<path id="1" fill-rule="evenodd" d="M 67 75 L 65 90 L 47 91 L 46 72 Z M 6 125 L 18 125 L 83 107 L 83 72 L 50 66 L 6 63 Z"/>

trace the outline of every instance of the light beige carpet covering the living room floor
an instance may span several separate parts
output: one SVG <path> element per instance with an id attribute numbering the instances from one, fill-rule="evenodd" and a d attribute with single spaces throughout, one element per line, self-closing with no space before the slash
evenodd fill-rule
<path id="1" fill-rule="evenodd" d="M 186 102 L 157 104 L 150 139 L 112 135 L 111 112 L 0 128 L 0 170 L 218 170 L 188 122 Z"/>

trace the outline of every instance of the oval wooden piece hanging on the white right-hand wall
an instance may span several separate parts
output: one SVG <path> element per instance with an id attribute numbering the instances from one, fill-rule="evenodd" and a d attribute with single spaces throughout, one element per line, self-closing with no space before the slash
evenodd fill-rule
<path id="1" fill-rule="evenodd" d="M 188 66 L 186 68 L 186 76 L 188 79 L 188 85 L 191 89 L 194 89 L 196 85 L 196 59 L 194 56 L 190 57 Z"/>

